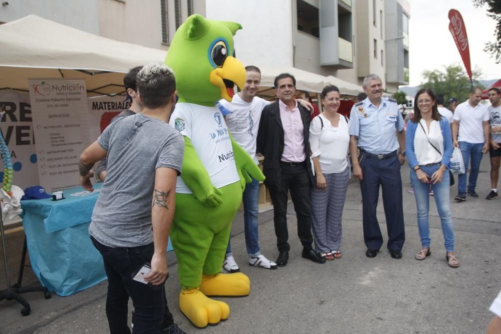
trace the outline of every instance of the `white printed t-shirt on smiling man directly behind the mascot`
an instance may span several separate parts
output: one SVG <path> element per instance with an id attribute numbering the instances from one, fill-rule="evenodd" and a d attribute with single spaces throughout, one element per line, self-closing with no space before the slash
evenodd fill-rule
<path id="1" fill-rule="evenodd" d="M 237 94 L 233 96 L 231 102 L 222 99 L 219 103 L 231 112 L 224 119 L 233 139 L 258 164 L 256 138 L 258 137 L 259 121 L 263 109 L 270 102 L 260 97 L 255 97 L 252 102 L 246 102 Z"/>

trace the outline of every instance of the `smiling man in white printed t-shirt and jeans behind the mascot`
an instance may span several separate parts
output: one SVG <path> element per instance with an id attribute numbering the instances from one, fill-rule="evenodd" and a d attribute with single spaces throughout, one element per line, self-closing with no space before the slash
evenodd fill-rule
<path id="1" fill-rule="evenodd" d="M 258 164 L 256 157 L 256 137 L 258 136 L 259 121 L 263 109 L 270 102 L 257 97 L 261 83 L 261 71 L 256 66 L 245 67 L 247 76 L 243 90 L 238 92 L 230 102 L 222 99 L 219 103 L 230 113 L 224 116 L 224 121 L 233 139 Z M 258 233 L 258 200 L 259 181 L 253 178 L 247 183 L 243 191 L 243 222 L 245 231 L 245 246 L 249 256 L 249 264 L 267 269 L 277 269 L 277 264 L 261 254 Z M 223 269 L 229 272 L 238 272 L 240 269 L 233 258 L 231 244 L 228 241 Z"/>

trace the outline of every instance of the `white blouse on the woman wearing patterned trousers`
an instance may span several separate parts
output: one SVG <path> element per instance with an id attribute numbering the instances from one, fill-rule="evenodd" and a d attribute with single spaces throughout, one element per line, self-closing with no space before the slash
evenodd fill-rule
<path id="1" fill-rule="evenodd" d="M 322 117 L 324 127 L 319 117 Z M 343 115 L 339 115 L 337 127 L 333 127 L 324 115 L 315 117 L 310 124 L 310 148 L 312 158 L 319 157 L 320 168 L 324 174 L 341 173 L 348 166 L 348 123 Z"/>

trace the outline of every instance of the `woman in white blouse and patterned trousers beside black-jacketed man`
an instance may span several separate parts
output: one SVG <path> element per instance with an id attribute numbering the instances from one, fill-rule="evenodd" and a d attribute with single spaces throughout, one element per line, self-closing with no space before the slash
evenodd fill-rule
<path id="1" fill-rule="evenodd" d="M 317 177 L 311 193 L 315 248 L 326 260 L 341 258 L 341 216 L 350 177 L 348 119 L 338 114 L 339 89 L 329 85 L 322 93 L 324 111 L 310 124 L 310 148 Z"/>

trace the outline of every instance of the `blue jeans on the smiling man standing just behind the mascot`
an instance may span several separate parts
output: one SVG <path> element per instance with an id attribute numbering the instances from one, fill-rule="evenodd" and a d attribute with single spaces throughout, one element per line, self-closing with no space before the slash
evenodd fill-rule
<path id="1" fill-rule="evenodd" d="M 249 256 L 256 257 L 261 255 L 259 248 L 258 232 L 258 212 L 259 212 L 259 181 L 252 179 L 251 183 L 245 185 L 242 195 L 243 201 L 243 228 L 245 230 L 245 246 Z M 231 237 L 230 237 L 231 240 Z M 228 240 L 226 254 L 231 254 L 231 243 Z"/>

